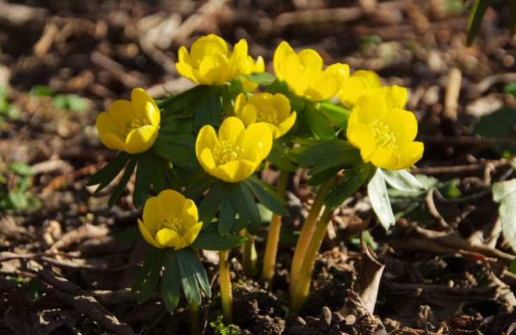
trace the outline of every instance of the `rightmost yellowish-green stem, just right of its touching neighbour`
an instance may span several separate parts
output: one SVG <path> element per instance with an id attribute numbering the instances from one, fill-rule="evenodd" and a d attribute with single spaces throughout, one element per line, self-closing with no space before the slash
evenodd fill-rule
<path id="1" fill-rule="evenodd" d="M 294 311 L 301 310 L 306 298 L 308 297 L 308 292 L 310 292 L 310 281 L 312 281 L 315 259 L 317 258 L 319 248 L 321 248 L 324 235 L 326 234 L 326 228 L 328 228 L 328 223 L 330 222 L 332 215 L 333 209 L 326 207 L 315 228 L 312 241 L 310 241 L 310 245 L 308 246 L 308 250 L 306 251 L 306 255 L 303 260 L 303 266 L 301 267 L 301 271 L 299 271 L 296 291 L 294 292 L 294 295 L 291 295 L 290 308 Z"/>

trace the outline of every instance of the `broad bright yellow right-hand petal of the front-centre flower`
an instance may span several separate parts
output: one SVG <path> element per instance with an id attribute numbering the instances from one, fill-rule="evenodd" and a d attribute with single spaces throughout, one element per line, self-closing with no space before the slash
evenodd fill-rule
<path id="1" fill-rule="evenodd" d="M 238 145 L 243 148 L 243 158 L 255 161 L 258 165 L 271 152 L 273 134 L 265 122 L 251 124 L 238 137 Z"/>

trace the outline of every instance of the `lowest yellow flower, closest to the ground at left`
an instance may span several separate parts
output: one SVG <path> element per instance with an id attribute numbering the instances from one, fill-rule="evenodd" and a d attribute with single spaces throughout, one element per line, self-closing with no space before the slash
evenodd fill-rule
<path id="1" fill-rule="evenodd" d="M 189 246 L 202 228 L 195 202 L 181 193 L 165 190 L 145 202 L 143 221 L 138 228 L 156 248 L 179 250 Z"/>

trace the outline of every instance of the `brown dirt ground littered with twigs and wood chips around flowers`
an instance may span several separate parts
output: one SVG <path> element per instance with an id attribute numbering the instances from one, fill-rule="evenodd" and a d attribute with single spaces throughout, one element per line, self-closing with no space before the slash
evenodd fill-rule
<path id="1" fill-rule="evenodd" d="M 516 36 L 505 28 L 508 10 L 489 10 L 466 47 L 472 2 L 0 0 L 0 334 L 188 334 L 184 301 L 170 315 L 158 293 L 137 306 L 128 290 L 146 251 L 133 184 L 108 209 L 109 187 L 93 196 L 85 183 L 115 154 L 98 140 L 96 115 L 134 87 L 153 96 L 191 87 L 174 68 L 176 52 L 211 32 L 247 39 L 269 70 L 288 40 L 326 64 L 376 70 L 408 87 L 425 142 L 413 172 L 438 191 L 393 195 L 389 232 L 365 193 L 342 205 L 308 303 L 287 313 L 295 232 L 310 207 L 299 172 L 289 181 L 272 288 L 245 276 L 241 253 L 232 253 L 236 326 L 225 332 L 216 330 L 217 260 L 204 253 L 214 292 L 202 306 L 204 334 L 516 334 L 515 255 L 490 193 L 513 173 L 516 87 L 511 94 L 507 84 L 516 82 Z M 374 314 L 356 293 L 375 264 L 358 243 L 367 230 L 385 265 Z M 258 253 L 265 236 L 266 228 Z"/>

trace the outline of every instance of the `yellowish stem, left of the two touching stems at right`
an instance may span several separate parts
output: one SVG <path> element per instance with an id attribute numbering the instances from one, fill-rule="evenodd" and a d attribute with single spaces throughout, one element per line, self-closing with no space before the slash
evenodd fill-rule
<path id="1" fill-rule="evenodd" d="M 324 204 L 324 197 L 326 197 L 332 185 L 333 179 L 329 179 L 321 184 L 317 191 L 317 195 L 315 196 L 312 208 L 308 213 L 308 217 L 303 224 L 303 228 L 301 228 L 301 234 L 298 237 L 296 249 L 294 250 L 294 258 L 292 258 L 292 265 L 290 268 L 290 295 L 294 295 L 294 292 L 296 292 L 296 283 L 298 282 L 299 271 L 301 271 L 306 250 L 310 244 L 312 235 L 314 234 L 315 223 L 317 223 L 317 218 L 321 213 L 321 208 Z"/>

